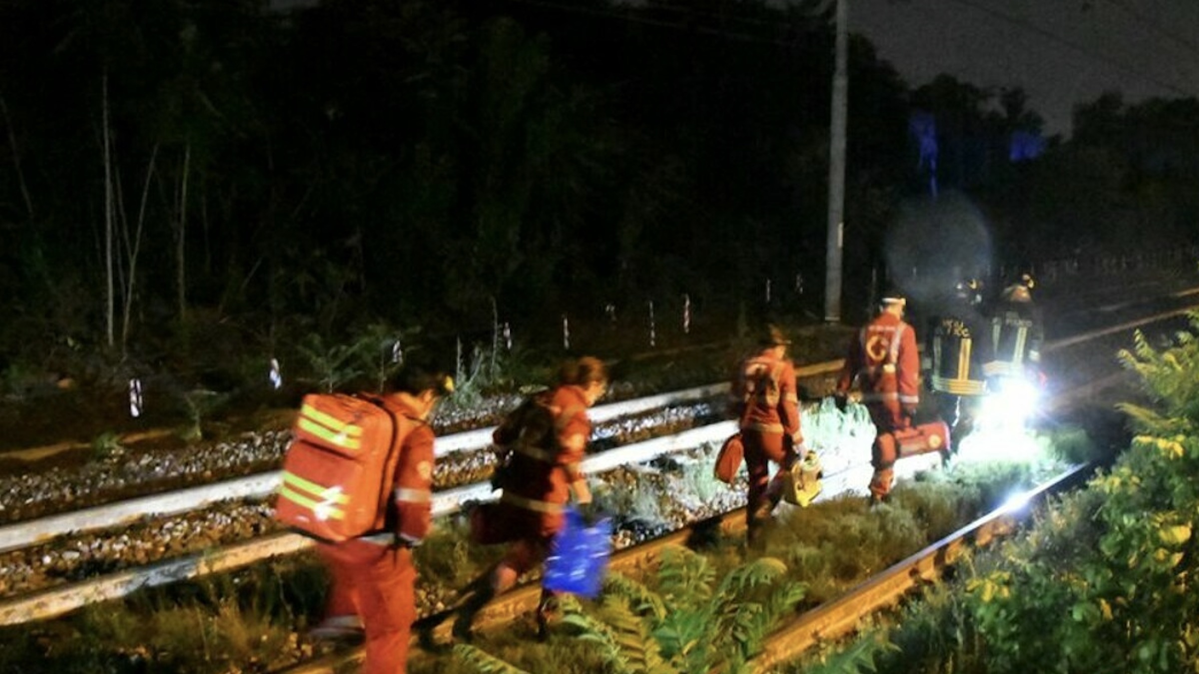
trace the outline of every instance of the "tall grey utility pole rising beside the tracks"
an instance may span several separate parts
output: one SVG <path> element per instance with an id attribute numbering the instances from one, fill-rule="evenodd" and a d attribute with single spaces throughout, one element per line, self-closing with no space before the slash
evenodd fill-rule
<path id="1" fill-rule="evenodd" d="M 842 248 L 845 239 L 845 126 L 849 110 L 849 0 L 836 0 L 836 65 L 829 124 L 829 240 L 825 248 L 825 321 L 840 321 Z"/>

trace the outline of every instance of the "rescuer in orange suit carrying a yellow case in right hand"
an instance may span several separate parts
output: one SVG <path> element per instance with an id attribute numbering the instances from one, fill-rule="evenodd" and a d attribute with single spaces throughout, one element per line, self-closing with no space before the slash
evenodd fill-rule
<path id="1" fill-rule="evenodd" d="M 761 350 L 741 362 L 733 380 L 733 411 L 740 420 L 749 471 L 746 523 L 751 542 L 757 542 L 763 524 L 778 506 L 791 464 L 806 453 L 795 366 L 787 357 L 791 341 L 767 325 L 758 343 Z M 771 462 L 779 467 L 773 477 Z"/>

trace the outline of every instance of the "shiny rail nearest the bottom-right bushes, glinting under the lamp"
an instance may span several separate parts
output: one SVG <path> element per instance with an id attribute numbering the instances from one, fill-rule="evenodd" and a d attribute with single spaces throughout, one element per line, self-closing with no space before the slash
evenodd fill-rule
<path id="1" fill-rule="evenodd" d="M 940 578 L 971 546 L 983 547 L 1014 530 L 1016 520 L 1025 517 L 1029 504 L 1074 485 L 1090 474 L 1091 464 L 1077 465 L 1024 493 L 1012 505 L 1002 505 L 974 523 L 899 561 L 837 598 L 801 614 L 794 622 L 771 634 L 763 652 L 754 658 L 754 672 L 794 660 L 820 642 L 849 634 L 862 616 L 894 606 L 914 588 Z"/>

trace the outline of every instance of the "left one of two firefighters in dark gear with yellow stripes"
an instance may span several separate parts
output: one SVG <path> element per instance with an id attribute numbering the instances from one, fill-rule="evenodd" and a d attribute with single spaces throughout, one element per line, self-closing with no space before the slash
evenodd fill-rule
<path id="1" fill-rule="evenodd" d="M 981 302 L 982 283 L 959 281 L 932 324 L 922 359 L 938 413 L 950 423 L 953 438 L 970 434 L 987 393 L 983 365 L 994 349 L 990 323 L 978 308 Z"/>

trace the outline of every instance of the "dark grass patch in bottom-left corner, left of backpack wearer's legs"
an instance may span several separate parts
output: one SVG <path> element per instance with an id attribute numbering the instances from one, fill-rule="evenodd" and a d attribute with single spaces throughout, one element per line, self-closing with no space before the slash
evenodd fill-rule
<path id="1" fill-rule="evenodd" d="M 312 654 L 296 628 L 320 610 L 326 583 L 320 565 L 300 555 L 140 592 L 119 609 L 95 604 L 67 620 L 5 627 L 0 672 L 263 672 Z"/>

